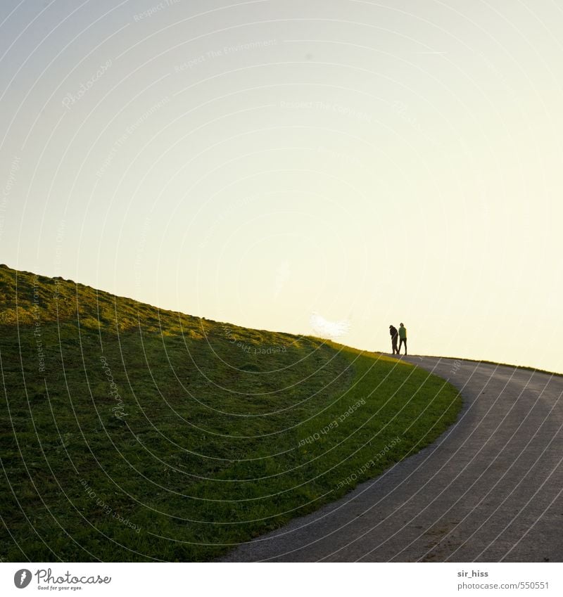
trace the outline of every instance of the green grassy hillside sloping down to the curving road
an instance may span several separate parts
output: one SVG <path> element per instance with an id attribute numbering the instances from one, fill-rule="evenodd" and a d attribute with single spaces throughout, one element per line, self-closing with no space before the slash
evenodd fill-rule
<path id="1" fill-rule="evenodd" d="M 0 558 L 210 560 L 457 418 L 377 353 L 0 266 Z"/>

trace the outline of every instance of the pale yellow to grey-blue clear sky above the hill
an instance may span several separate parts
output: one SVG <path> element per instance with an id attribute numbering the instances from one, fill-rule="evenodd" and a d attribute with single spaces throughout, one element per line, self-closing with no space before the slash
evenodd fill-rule
<path id="1" fill-rule="evenodd" d="M 552 0 L 3 0 L 0 262 L 563 372 L 562 30 Z"/>

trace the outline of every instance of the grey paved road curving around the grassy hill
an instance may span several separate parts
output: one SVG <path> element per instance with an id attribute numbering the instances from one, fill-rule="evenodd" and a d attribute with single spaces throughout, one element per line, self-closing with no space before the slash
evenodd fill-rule
<path id="1" fill-rule="evenodd" d="M 464 397 L 434 444 L 224 561 L 563 561 L 563 377 L 408 357 Z"/>

